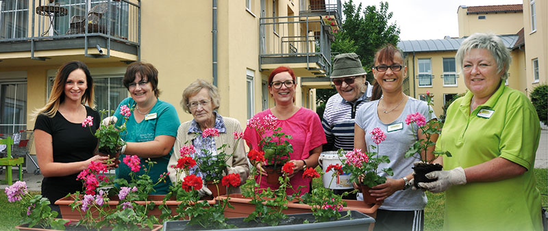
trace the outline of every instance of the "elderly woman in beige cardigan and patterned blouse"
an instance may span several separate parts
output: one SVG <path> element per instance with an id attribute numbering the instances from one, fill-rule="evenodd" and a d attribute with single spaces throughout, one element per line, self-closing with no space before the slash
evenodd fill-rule
<path id="1" fill-rule="evenodd" d="M 181 158 L 179 149 L 182 146 L 192 144 L 196 148 L 196 152 L 192 154 L 192 158 L 197 160 L 204 155 L 213 154 L 212 152 L 219 151 L 221 146 L 225 146 L 225 152 L 232 154 L 226 160 L 227 174 L 238 174 L 240 176 L 240 185 L 245 183 L 247 176 L 249 176 L 249 166 L 247 158 L 245 157 L 244 143 L 242 139 L 234 139 L 234 133 L 242 134 L 242 126 L 240 122 L 234 118 L 228 118 L 221 116 L 216 110 L 219 109 L 220 103 L 219 90 L 217 87 L 208 83 L 202 79 L 190 83 L 183 92 L 183 98 L 181 100 L 181 106 L 184 111 L 191 113 L 194 119 L 184 122 L 179 126 L 177 130 L 177 138 L 175 139 L 175 145 L 173 146 L 173 154 L 168 164 L 168 172 L 175 173 L 174 165 L 177 165 L 177 160 Z M 202 146 L 202 133 L 207 128 L 216 128 L 219 130 L 219 136 L 214 137 L 215 150 L 212 152 L 203 152 Z M 198 160 L 197 160 L 198 161 Z M 199 169 L 193 167 L 190 169 L 190 174 L 196 174 L 201 176 Z M 177 179 L 176 174 L 169 174 L 171 182 L 177 182 L 182 180 L 184 176 L 179 176 Z M 230 193 L 239 193 L 240 188 L 231 189 Z M 212 192 L 207 187 L 199 189 L 200 196 L 212 195 Z"/>

